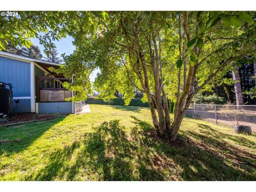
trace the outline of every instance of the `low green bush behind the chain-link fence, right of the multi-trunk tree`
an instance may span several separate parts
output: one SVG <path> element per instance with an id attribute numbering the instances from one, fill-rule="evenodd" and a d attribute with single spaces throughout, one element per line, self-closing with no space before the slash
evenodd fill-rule
<path id="1" fill-rule="evenodd" d="M 212 95 L 202 95 L 201 94 L 202 103 L 205 104 L 216 104 L 216 105 L 224 105 L 227 103 L 227 99 L 224 97 L 220 97 L 219 95 L 213 93 Z M 197 94 L 195 96 L 195 103 L 200 103 L 200 96 Z"/>

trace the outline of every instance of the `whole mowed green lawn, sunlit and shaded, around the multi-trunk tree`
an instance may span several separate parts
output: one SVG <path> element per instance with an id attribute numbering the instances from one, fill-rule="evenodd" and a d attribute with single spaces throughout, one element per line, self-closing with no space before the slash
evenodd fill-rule
<path id="1" fill-rule="evenodd" d="M 256 180 L 256 135 L 185 118 L 175 142 L 148 108 L 91 105 L 90 114 L 0 127 L 0 180 Z"/>

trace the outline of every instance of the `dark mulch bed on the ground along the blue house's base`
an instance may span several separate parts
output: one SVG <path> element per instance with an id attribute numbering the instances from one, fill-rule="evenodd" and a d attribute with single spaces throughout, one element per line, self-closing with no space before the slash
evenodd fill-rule
<path id="1" fill-rule="evenodd" d="M 0 125 L 8 125 L 13 123 L 21 123 L 21 122 L 27 122 L 27 121 L 35 121 L 40 119 L 46 119 L 46 118 L 52 118 L 56 117 L 55 114 L 32 114 L 32 113 L 20 113 L 20 114 L 13 114 L 13 116 L 9 119 L 6 118 L 6 121 L 1 121 Z"/>

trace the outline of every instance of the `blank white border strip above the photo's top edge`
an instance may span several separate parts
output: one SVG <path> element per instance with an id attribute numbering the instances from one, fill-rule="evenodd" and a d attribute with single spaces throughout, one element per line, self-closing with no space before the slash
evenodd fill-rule
<path id="1" fill-rule="evenodd" d="M 35 0 L 2 1 L 1 10 L 9 11 L 253 11 L 255 0 Z"/>

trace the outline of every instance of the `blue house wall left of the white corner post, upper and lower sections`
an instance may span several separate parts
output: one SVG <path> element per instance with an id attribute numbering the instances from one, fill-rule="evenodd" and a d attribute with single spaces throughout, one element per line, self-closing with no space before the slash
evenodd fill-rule
<path id="1" fill-rule="evenodd" d="M 0 57 L 0 81 L 13 86 L 13 113 L 31 112 L 30 63 Z"/>

